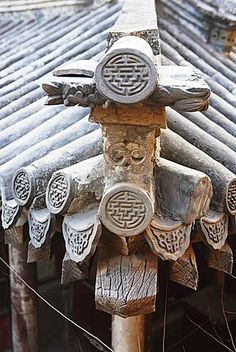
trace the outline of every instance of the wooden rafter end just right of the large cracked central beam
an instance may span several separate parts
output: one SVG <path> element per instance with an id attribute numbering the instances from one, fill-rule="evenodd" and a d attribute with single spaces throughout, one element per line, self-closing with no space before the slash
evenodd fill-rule
<path id="1" fill-rule="evenodd" d="M 197 290 L 199 275 L 195 253 L 191 245 L 181 258 L 170 263 L 170 280 Z"/>

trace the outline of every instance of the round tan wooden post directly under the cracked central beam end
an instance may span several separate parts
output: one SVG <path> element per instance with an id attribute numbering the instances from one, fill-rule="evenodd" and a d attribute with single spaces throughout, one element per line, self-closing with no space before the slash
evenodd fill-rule
<path id="1" fill-rule="evenodd" d="M 112 348 L 114 352 L 145 351 L 145 316 L 112 318 Z"/>

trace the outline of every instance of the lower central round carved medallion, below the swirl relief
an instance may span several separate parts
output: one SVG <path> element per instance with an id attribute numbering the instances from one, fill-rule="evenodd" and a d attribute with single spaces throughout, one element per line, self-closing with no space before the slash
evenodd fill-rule
<path id="1" fill-rule="evenodd" d="M 150 224 L 153 213 L 152 201 L 145 190 L 128 183 L 109 189 L 99 208 L 103 224 L 121 236 L 143 232 Z"/>

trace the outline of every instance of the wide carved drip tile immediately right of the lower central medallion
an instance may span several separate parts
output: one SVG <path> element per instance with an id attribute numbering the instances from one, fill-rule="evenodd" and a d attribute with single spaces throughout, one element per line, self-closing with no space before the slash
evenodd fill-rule
<path id="1" fill-rule="evenodd" d="M 145 232 L 152 251 L 163 260 L 177 260 L 190 245 L 192 224 L 166 222 L 163 225 L 155 219 Z"/>

